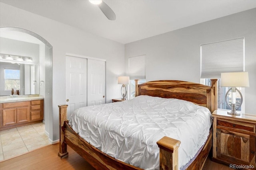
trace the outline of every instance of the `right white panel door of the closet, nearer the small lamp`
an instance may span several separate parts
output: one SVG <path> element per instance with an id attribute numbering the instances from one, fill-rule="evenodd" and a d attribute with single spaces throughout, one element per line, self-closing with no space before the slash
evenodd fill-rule
<path id="1" fill-rule="evenodd" d="M 106 62 L 88 59 L 87 65 L 87 106 L 105 104 Z"/>

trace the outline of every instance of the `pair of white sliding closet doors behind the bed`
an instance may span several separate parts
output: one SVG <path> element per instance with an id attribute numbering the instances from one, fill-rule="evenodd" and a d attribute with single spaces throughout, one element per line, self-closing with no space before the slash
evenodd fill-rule
<path id="1" fill-rule="evenodd" d="M 105 103 L 105 61 L 66 56 L 67 118 L 79 107 Z"/>

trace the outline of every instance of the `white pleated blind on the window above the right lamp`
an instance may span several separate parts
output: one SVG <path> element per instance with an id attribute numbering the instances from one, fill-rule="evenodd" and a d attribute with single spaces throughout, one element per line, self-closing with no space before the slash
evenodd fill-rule
<path id="1" fill-rule="evenodd" d="M 244 37 L 201 45 L 201 78 L 244 71 Z"/>

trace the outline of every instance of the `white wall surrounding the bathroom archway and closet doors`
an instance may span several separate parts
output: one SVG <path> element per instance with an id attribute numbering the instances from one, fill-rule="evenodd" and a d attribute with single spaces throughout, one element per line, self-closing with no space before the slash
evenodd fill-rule
<path id="1" fill-rule="evenodd" d="M 50 139 L 59 139 L 58 105 L 66 103 L 65 54 L 73 53 L 106 59 L 106 102 L 120 96 L 117 77 L 124 73 L 124 45 L 92 35 L 75 27 L 0 3 L 0 26 L 28 29 L 52 45 L 53 115 Z M 47 120 L 46 120 L 47 121 Z"/>

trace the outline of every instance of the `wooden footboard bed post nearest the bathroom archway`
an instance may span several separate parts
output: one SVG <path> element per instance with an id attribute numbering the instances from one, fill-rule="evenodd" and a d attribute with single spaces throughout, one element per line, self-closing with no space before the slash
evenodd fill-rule
<path id="1" fill-rule="evenodd" d="M 64 141 L 64 133 L 61 129 L 61 127 L 64 124 L 64 121 L 66 121 L 66 117 L 67 117 L 67 107 L 68 105 L 58 105 L 59 107 L 59 119 L 60 119 L 60 152 L 58 152 L 58 156 L 60 156 L 60 158 L 65 158 L 68 157 L 68 151 L 67 151 L 67 144 Z"/>

